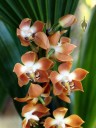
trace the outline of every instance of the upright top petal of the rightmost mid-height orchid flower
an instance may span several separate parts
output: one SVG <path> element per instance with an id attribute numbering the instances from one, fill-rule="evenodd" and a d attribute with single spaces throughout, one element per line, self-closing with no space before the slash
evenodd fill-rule
<path id="1" fill-rule="evenodd" d="M 62 64 L 59 65 L 58 71 L 59 71 L 59 73 L 62 73 L 64 71 L 69 72 L 71 67 L 72 67 L 72 62 L 65 62 L 65 63 L 62 63 Z"/>

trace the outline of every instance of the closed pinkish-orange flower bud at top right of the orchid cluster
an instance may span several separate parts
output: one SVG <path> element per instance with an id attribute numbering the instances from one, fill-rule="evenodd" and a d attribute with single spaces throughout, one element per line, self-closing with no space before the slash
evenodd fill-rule
<path id="1" fill-rule="evenodd" d="M 72 24 L 76 23 L 77 19 L 74 15 L 68 14 L 59 19 L 59 24 L 62 27 L 70 27 Z"/>

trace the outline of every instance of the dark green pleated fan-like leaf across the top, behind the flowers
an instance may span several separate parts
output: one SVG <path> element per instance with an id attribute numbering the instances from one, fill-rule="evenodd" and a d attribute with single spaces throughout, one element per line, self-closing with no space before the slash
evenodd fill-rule
<path id="1" fill-rule="evenodd" d="M 79 0 L 1 0 L 0 18 L 11 26 L 18 27 L 23 18 L 45 23 L 55 23 L 61 16 L 73 14 Z M 7 19 L 7 20 L 6 20 Z"/>

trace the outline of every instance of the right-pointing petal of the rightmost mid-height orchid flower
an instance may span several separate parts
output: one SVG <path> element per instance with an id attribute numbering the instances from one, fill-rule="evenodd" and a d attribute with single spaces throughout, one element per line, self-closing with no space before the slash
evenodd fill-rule
<path id="1" fill-rule="evenodd" d="M 73 76 L 73 80 L 81 81 L 86 77 L 87 74 L 88 71 L 82 68 L 77 68 L 70 75 Z"/>

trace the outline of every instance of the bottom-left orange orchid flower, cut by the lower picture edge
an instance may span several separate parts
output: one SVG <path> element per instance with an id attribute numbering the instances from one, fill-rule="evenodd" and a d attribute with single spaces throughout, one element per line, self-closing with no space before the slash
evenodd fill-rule
<path id="1" fill-rule="evenodd" d="M 48 113 L 49 109 L 42 104 L 27 104 L 22 108 L 22 116 L 24 120 L 22 127 L 26 128 L 27 125 L 35 126 L 38 124 L 40 118 Z"/>

